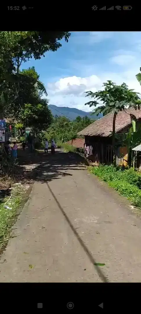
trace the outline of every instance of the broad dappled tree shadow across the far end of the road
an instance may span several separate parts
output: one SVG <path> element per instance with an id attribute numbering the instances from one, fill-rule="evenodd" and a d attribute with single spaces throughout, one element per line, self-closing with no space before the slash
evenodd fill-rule
<path id="1" fill-rule="evenodd" d="M 86 161 L 79 154 L 73 152 L 64 153 L 60 149 L 52 155 L 50 152 L 29 153 L 18 149 L 18 165 L 23 171 L 22 180 L 46 182 L 54 179 L 60 179 L 62 176 L 72 176 L 68 170 L 80 170 L 78 165 L 81 164 L 81 170 L 86 169 Z M 21 178 L 20 178 L 21 179 Z"/>

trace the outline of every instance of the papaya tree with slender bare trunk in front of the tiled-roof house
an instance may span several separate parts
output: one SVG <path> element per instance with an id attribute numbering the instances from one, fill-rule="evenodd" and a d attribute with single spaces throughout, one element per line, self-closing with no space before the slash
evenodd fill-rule
<path id="1" fill-rule="evenodd" d="M 113 149 L 113 163 L 116 165 L 116 148 L 115 148 L 115 122 L 118 111 L 122 111 L 126 106 L 139 106 L 141 100 L 139 93 L 134 92 L 133 89 L 129 89 L 128 86 L 123 83 L 116 85 L 112 81 L 103 83 L 104 90 L 99 90 L 95 93 L 91 91 L 86 92 L 86 97 L 90 96 L 94 100 L 88 101 L 85 105 L 97 107 L 94 113 L 107 113 L 113 112 L 113 124 L 112 124 L 112 149 Z M 100 104 L 98 101 L 101 101 Z"/>

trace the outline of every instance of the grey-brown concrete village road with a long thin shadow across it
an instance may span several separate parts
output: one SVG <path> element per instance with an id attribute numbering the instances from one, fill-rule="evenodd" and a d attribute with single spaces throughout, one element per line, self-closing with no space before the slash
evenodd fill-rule
<path id="1" fill-rule="evenodd" d="M 13 229 L 0 282 L 141 282 L 140 218 L 73 154 L 44 156 Z"/>

